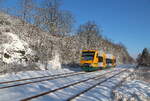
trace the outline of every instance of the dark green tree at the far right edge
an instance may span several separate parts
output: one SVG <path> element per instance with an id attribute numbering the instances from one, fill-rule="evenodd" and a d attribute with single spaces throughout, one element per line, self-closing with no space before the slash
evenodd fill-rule
<path id="1" fill-rule="evenodd" d="M 139 66 L 150 66 L 150 50 L 148 48 L 144 48 L 138 55 L 137 63 Z"/>

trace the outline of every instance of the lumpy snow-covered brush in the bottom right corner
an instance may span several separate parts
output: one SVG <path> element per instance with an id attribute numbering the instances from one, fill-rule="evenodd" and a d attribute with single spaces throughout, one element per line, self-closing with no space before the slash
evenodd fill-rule
<path id="1" fill-rule="evenodd" d="M 150 101 L 150 84 L 140 80 L 125 83 L 114 91 L 116 100 Z"/>

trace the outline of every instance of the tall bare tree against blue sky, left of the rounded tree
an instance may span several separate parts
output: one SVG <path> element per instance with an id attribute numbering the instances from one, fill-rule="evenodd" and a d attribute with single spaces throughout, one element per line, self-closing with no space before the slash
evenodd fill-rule
<path id="1" fill-rule="evenodd" d="M 36 25 L 50 34 L 65 35 L 71 32 L 74 19 L 69 11 L 60 10 L 60 0 L 44 0 L 37 7 Z"/>

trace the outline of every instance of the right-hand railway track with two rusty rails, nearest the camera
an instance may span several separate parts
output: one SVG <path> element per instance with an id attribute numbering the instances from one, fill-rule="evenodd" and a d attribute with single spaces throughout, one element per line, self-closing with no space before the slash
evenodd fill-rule
<path id="1" fill-rule="evenodd" d="M 53 89 L 53 90 L 50 89 L 49 91 L 46 91 L 46 92 L 43 92 L 43 93 L 40 93 L 40 94 L 36 94 L 36 95 L 30 96 L 30 97 L 26 97 L 26 98 L 24 98 L 24 99 L 21 99 L 21 101 L 33 100 L 33 99 L 35 99 L 35 98 L 39 98 L 39 97 L 41 97 L 41 96 L 44 96 L 44 95 L 47 95 L 47 94 L 50 94 L 50 93 L 54 93 L 54 92 L 56 92 L 56 91 L 59 91 L 59 90 L 65 89 L 65 88 L 73 87 L 73 86 L 75 86 L 75 85 L 78 85 L 78 84 L 81 84 L 81 83 L 84 83 L 84 82 L 87 82 L 87 81 L 90 81 L 90 80 L 95 80 L 95 81 L 97 81 L 97 80 L 102 79 L 102 81 L 100 81 L 100 82 L 98 82 L 98 83 L 96 83 L 96 84 L 94 84 L 94 85 L 91 85 L 91 86 L 88 87 L 87 89 L 85 89 L 85 90 L 81 91 L 80 93 L 75 94 L 75 95 L 73 95 L 73 96 L 71 96 L 71 97 L 69 97 L 69 98 L 67 99 L 68 101 L 71 101 L 71 100 L 75 99 L 76 97 L 80 96 L 81 94 L 83 94 L 83 93 L 89 91 L 90 89 L 96 87 L 97 85 L 99 85 L 99 84 L 101 84 L 101 83 L 103 83 L 103 82 L 105 82 L 105 81 L 107 81 L 107 80 L 113 78 L 114 76 L 119 75 L 119 74 L 121 74 L 122 72 L 125 72 L 125 71 L 127 71 L 127 69 L 110 71 L 110 72 L 107 72 L 107 73 L 104 73 L 104 74 L 101 74 L 101 75 L 97 75 L 97 76 L 95 76 L 95 77 L 87 78 L 87 79 L 84 79 L 84 80 L 80 80 L 80 81 L 77 81 L 77 82 L 74 82 L 74 83 L 71 83 L 71 84 L 62 86 L 62 87 L 60 87 L 60 88 L 56 88 L 56 89 Z M 116 72 L 117 72 L 117 73 L 116 73 Z M 111 73 L 113 73 L 113 74 L 111 74 Z M 108 74 L 109 74 L 109 75 L 111 74 L 111 76 L 109 77 Z M 108 75 L 108 77 L 107 77 L 106 75 Z M 104 78 L 105 78 L 105 79 L 104 79 Z"/>

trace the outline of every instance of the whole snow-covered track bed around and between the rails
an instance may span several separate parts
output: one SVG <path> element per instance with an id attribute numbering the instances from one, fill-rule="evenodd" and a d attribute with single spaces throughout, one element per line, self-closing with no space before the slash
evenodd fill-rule
<path id="1" fill-rule="evenodd" d="M 121 68 L 122 67 L 122 68 Z M 45 80 L 42 82 L 30 83 L 19 85 L 15 87 L 11 87 L 12 85 L 22 84 L 25 82 L 32 82 L 36 80 L 43 80 L 43 78 L 32 79 L 32 80 L 25 80 L 19 82 L 12 82 L 12 83 L 1 83 L 4 81 L 12 81 L 12 80 L 20 80 L 26 78 L 33 78 L 33 77 L 41 77 L 41 76 L 48 76 L 48 75 L 55 75 L 55 74 L 62 74 L 62 73 L 74 73 L 75 71 L 69 69 L 51 69 L 47 71 L 27 71 L 27 72 L 18 72 L 12 74 L 5 74 L 0 76 L 0 101 L 18 101 L 25 99 L 27 97 L 34 96 L 36 94 L 40 94 L 46 91 L 55 90 L 57 88 L 79 82 L 82 80 L 86 80 L 91 77 L 95 77 L 98 75 L 102 75 L 107 73 L 107 75 L 100 79 L 92 79 L 77 85 L 67 87 L 54 93 L 48 93 L 44 96 L 37 97 L 35 101 L 65 101 L 68 98 L 71 98 L 73 95 L 76 95 L 87 88 L 95 85 L 98 82 L 102 82 L 100 85 L 90 89 L 89 91 L 81 94 L 79 97 L 76 97 L 74 100 L 77 101 L 112 101 L 112 91 L 118 86 L 118 84 L 124 80 L 132 72 L 123 72 L 119 75 L 114 76 L 111 79 L 106 80 L 106 78 L 111 77 L 113 74 L 108 72 L 115 72 L 115 70 L 124 70 L 124 68 L 133 67 L 132 65 L 122 65 L 118 66 L 117 68 L 110 68 L 95 72 L 85 72 L 84 74 L 72 75 L 68 77 L 62 77 L 52 80 Z M 132 71 L 132 69 L 131 69 Z M 5 87 L 8 88 L 5 88 Z M 143 85 L 142 85 L 143 86 Z"/>

